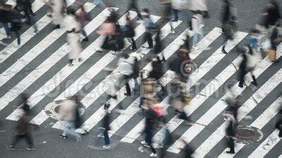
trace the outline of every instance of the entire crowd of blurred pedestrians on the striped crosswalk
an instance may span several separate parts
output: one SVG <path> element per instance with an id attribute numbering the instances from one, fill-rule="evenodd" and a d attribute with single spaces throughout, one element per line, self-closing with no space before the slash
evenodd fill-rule
<path id="1" fill-rule="evenodd" d="M 11 32 L 15 32 L 18 39 L 18 45 L 20 45 L 20 30 L 22 21 L 26 20 L 27 25 L 32 25 L 35 32 L 37 32 L 37 26 L 33 20 L 35 13 L 32 12 L 31 3 L 29 0 L 17 0 L 16 6 L 8 4 L 0 4 L 0 22 L 4 26 L 6 32 L 6 39 L 11 38 Z M 166 112 L 165 108 L 159 105 L 159 103 L 166 96 L 170 96 L 169 104 L 175 109 L 175 114 L 179 119 L 184 119 L 189 126 L 192 126 L 193 121 L 188 117 L 184 107 L 190 102 L 190 94 L 186 88 L 189 75 L 193 73 L 189 67 L 190 63 L 194 62 L 190 58 L 190 52 L 198 50 L 198 43 L 204 38 L 202 25 L 204 24 L 204 18 L 209 18 L 210 13 L 205 0 L 160 0 L 161 2 L 161 21 L 169 22 L 171 24 L 171 34 L 175 33 L 173 28 L 173 22 L 178 21 L 178 13 L 180 11 L 188 13 L 191 18 L 187 20 L 190 32 L 187 34 L 185 42 L 178 48 L 176 57 L 171 59 L 167 63 L 167 59 L 164 55 L 159 55 L 164 49 L 161 44 L 161 29 L 157 23 L 152 20 L 150 11 L 148 8 L 140 9 L 137 5 L 136 0 L 130 0 L 128 10 L 125 13 L 126 22 L 124 26 L 118 23 L 118 13 L 112 8 L 111 5 L 105 4 L 101 0 L 94 0 L 95 5 L 109 8 L 110 15 L 103 22 L 102 26 L 97 31 L 104 41 L 99 44 L 100 48 L 97 49 L 99 52 L 111 51 L 114 55 L 117 55 L 118 70 L 121 72 L 121 77 L 117 79 L 116 84 L 112 85 L 111 90 L 107 91 L 108 98 L 116 99 L 118 93 L 116 93 L 123 84 L 125 85 L 125 96 L 133 96 L 135 94 L 140 95 L 140 112 L 145 117 L 145 129 L 142 133 L 145 134 L 145 140 L 141 143 L 144 147 L 149 147 L 152 150 L 151 157 L 157 157 L 157 151 L 153 145 L 153 136 L 156 130 L 156 126 L 161 126 L 164 129 L 164 142 L 161 143 L 161 154 L 160 157 L 164 157 L 166 154 L 166 148 L 173 142 L 171 132 L 166 126 Z M 51 8 L 49 17 L 53 18 L 54 29 L 66 29 L 66 41 L 71 48 L 68 52 L 69 65 L 73 66 L 74 61 L 80 62 L 82 58 L 80 53 L 82 52 L 81 42 L 90 42 L 87 33 L 85 32 L 85 25 L 87 21 L 90 21 L 90 16 L 84 9 L 82 3 L 75 1 L 73 6 L 67 6 L 68 1 L 64 0 L 52 0 L 47 2 L 47 6 Z M 75 12 L 78 8 L 80 11 Z M 143 72 L 140 70 L 143 60 L 140 59 L 136 53 L 125 53 L 123 49 L 126 46 L 130 46 L 133 52 L 137 52 L 138 46 L 135 41 L 135 20 L 130 18 L 129 11 L 137 12 L 137 22 L 142 22 L 145 27 L 144 42 L 147 43 L 147 50 L 152 53 L 152 70 L 150 72 Z M 231 0 L 223 0 L 222 17 L 220 19 L 223 36 L 225 38 L 222 47 L 222 53 L 226 52 L 226 42 L 233 40 L 235 33 L 238 29 L 238 15 L 236 8 Z M 192 32 L 192 34 L 191 34 Z M 155 34 L 155 36 L 154 36 Z M 83 38 L 81 38 L 83 37 Z M 155 42 L 154 42 L 155 41 Z M 281 13 L 279 6 L 276 1 L 271 1 L 266 6 L 264 13 L 262 13 L 261 23 L 254 26 L 252 31 L 247 37 L 247 42 L 242 48 L 238 48 L 239 53 L 242 54 L 243 60 L 239 66 L 239 87 L 243 88 L 244 78 L 248 72 L 252 76 L 252 84 L 257 86 L 254 70 L 259 64 L 262 54 L 268 53 L 268 58 L 271 62 L 278 62 L 276 59 L 276 50 L 278 45 L 281 43 Z M 134 55 L 135 54 L 135 55 Z M 187 62 L 188 61 L 188 62 Z M 187 65 L 183 66 L 183 62 L 187 62 Z M 170 89 L 166 88 L 161 81 L 161 77 L 164 74 L 164 67 L 168 66 L 170 70 L 175 73 L 173 81 L 171 81 Z M 134 79 L 133 91 L 130 88 L 129 81 Z M 123 84 L 121 84 L 123 83 Z M 26 102 L 27 97 L 25 96 Z M 68 135 L 75 137 L 75 140 L 81 141 L 80 134 L 75 133 L 75 129 L 81 126 L 80 114 L 78 112 L 78 105 L 80 105 L 78 96 L 71 96 L 66 103 L 64 103 L 59 110 L 61 114 L 61 121 L 63 121 L 63 133 L 60 135 L 61 138 L 68 138 Z M 105 150 L 110 150 L 110 139 L 109 139 L 109 126 L 111 122 L 111 102 L 107 102 L 104 105 L 105 117 L 103 121 L 104 131 L 102 133 L 105 145 Z M 228 127 L 226 129 L 226 135 L 228 136 L 228 147 L 231 148 L 228 153 L 234 154 L 234 140 L 235 128 L 238 124 L 237 110 L 240 107 L 240 98 L 232 98 L 228 100 L 228 109 L 226 110 L 225 117 L 228 121 Z M 12 145 L 8 149 L 16 148 L 16 143 L 19 138 L 26 138 L 29 147 L 27 150 L 34 150 L 31 127 L 26 117 L 30 113 L 28 105 L 25 103 L 22 106 L 24 111 L 23 117 L 19 121 L 17 126 L 18 134 L 13 141 Z M 281 137 L 281 119 L 277 121 L 276 128 L 280 129 L 279 137 Z M 141 132 L 141 131 L 140 131 Z M 185 157 L 191 157 L 193 149 L 185 143 Z M 142 152 L 144 148 L 140 148 Z"/>

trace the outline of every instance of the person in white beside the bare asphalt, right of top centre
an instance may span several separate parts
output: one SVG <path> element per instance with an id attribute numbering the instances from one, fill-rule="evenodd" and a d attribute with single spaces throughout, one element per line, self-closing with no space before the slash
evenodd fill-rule
<path id="1" fill-rule="evenodd" d="M 200 14 L 200 12 L 195 12 L 195 14 L 192 16 L 191 22 L 192 22 L 192 32 L 194 33 L 192 48 L 197 50 L 199 49 L 197 47 L 198 42 L 204 38 L 202 27 L 201 27 L 202 15 Z"/>

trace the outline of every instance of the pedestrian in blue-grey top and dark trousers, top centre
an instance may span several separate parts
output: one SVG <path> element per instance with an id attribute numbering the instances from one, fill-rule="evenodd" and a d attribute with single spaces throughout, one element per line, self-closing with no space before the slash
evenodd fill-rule
<path id="1" fill-rule="evenodd" d="M 145 40 L 148 42 L 148 47 L 147 49 L 152 49 L 153 48 L 153 39 L 152 39 L 152 32 L 157 29 L 155 23 L 152 21 L 152 19 L 150 18 L 150 14 L 149 14 L 149 9 L 145 8 L 143 9 L 144 12 L 144 26 L 145 26 Z"/>

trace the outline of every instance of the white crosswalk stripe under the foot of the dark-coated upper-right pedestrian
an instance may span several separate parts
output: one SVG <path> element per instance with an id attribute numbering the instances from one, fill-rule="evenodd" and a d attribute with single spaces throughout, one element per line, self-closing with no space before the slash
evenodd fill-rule
<path id="1" fill-rule="evenodd" d="M 235 38 L 233 41 L 228 41 L 226 44 L 226 52 L 230 52 L 236 45 L 240 43 L 245 37 L 247 36 L 247 33 L 245 32 L 237 32 Z M 202 77 L 204 77 L 204 74 L 207 74 L 209 70 L 216 65 L 217 62 L 219 62 L 223 57 L 226 55 L 221 52 L 222 46 L 217 49 L 207 60 L 205 60 L 200 67 L 197 68 L 195 72 L 193 72 L 188 80 L 188 89 L 196 84 Z"/>

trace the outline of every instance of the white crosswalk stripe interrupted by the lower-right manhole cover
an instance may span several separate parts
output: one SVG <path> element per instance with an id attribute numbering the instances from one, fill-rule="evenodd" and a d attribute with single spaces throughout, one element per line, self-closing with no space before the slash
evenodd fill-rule
<path id="1" fill-rule="evenodd" d="M 250 126 L 254 126 L 257 129 L 262 129 L 269 121 L 275 117 L 275 115 L 278 113 L 279 105 L 279 98 L 277 98 L 274 103 L 272 103 L 255 121 L 252 122 Z M 238 144 L 235 146 L 235 152 L 238 153 L 245 144 Z M 226 148 L 219 157 L 226 157 L 228 154 L 226 153 L 228 151 L 228 148 Z M 234 154 L 233 154 L 234 156 Z"/>

